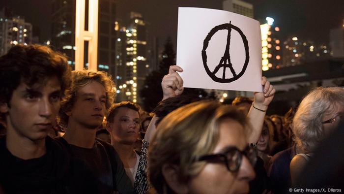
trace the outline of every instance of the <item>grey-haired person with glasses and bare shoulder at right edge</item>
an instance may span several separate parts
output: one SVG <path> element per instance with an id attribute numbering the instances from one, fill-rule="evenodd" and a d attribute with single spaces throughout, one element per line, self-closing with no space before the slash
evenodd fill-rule
<path id="1" fill-rule="evenodd" d="M 343 88 L 317 87 L 303 98 L 292 124 L 297 152 L 290 162 L 292 184 L 297 182 L 319 143 L 343 121 L 343 115 Z"/>

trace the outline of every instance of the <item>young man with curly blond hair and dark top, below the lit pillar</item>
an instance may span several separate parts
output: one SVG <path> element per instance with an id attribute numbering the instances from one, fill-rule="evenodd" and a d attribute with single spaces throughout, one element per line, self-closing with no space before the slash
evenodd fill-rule
<path id="1" fill-rule="evenodd" d="M 70 148 L 75 158 L 86 162 L 97 193 L 134 193 L 114 147 L 96 139 L 96 130 L 114 102 L 114 82 L 104 72 L 86 70 L 73 71 L 72 80 L 59 111 L 59 124 L 66 128 L 60 142 Z"/>

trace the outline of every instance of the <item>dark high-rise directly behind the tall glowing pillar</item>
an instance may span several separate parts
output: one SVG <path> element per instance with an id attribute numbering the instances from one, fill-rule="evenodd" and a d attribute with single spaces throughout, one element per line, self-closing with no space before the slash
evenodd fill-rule
<path id="1" fill-rule="evenodd" d="M 98 70 L 106 71 L 113 76 L 115 75 L 116 42 L 115 8 L 115 0 L 99 0 Z M 75 47 L 76 0 L 52 0 L 52 9 L 52 45 L 69 58 L 68 63 L 74 68 L 75 49 L 77 49 Z M 87 60 L 84 61 L 84 66 L 87 67 Z"/>

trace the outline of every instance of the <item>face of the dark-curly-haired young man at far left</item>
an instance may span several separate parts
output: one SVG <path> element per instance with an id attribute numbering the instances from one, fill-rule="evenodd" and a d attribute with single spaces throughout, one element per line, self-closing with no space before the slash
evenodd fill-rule
<path id="1" fill-rule="evenodd" d="M 15 134 L 31 141 L 44 139 L 56 122 L 60 96 L 61 87 L 57 77 L 32 87 L 21 82 L 13 91 L 9 106 L 0 106 L 1 112 L 7 114 L 7 134 Z"/>

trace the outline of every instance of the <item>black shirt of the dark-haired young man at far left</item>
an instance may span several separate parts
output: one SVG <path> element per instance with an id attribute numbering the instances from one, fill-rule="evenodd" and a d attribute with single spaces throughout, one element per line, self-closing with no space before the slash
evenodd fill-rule
<path id="1" fill-rule="evenodd" d="M 0 137 L 0 187 L 6 194 L 81 194 L 95 191 L 94 184 L 83 184 L 89 173 L 75 173 L 75 166 L 85 164 L 71 160 L 63 144 L 46 137 L 46 149 L 46 154 L 40 158 L 23 160 L 13 156 L 6 148 L 5 136 Z"/>

